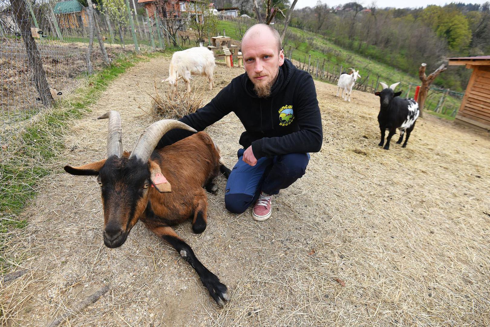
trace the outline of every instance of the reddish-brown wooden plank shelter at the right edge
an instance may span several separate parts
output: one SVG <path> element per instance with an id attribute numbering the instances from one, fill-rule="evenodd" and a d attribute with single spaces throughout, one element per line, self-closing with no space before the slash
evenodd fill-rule
<path id="1" fill-rule="evenodd" d="M 466 68 L 473 70 L 456 122 L 490 131 L 490 56 L 448 60 L 449 66 L 466 65 Z"/>

